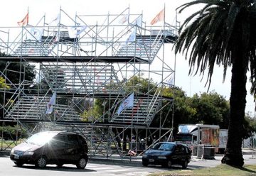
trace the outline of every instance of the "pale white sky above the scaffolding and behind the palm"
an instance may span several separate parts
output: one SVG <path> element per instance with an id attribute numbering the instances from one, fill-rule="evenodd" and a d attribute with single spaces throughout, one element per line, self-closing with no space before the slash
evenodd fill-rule
<path id="1" fill-rule="evenodd" d="M 150 23 L 152 18 L 156 16 L 161 9 L 166 9 L 166 22 L 174 24 L 176 19 L 176 8 L 191 0 L 4 0 L 1 1 L 0 26 L 16 27 L 17 22 L 26 15 L 29 11 L 29 23 L 37 23 L 38 20 L 46 14 L 46 22 L 50 22 L 59 13 L 60 8 L 70 16 L 75 14 L 119 14 L 124 9 L 129 7 L 130 13 L 142 13 L 143 21 Z M 183 11 L 177 14 L 178 21 L 182 21 L 189 16 L 193 11 L 197 10 L 198 6 Z M 174 55 L 174 51 L 170 48 L 168 57 L 174 60 L 176 57 L 176 79 L 175 84 L 181 87 L 188 96 L 207 92 L 206 77 L 202 79 L 201 75 L 188 75 L 188 61 L 181 54 Z M 167 50 L 165 49 L 165 50 Z M 249 77 L 249 75 L 247 75 Z M 210 84 L 209 92 L 217 92 L 223 95 L 225 99 L 230 98 L 230 69 L 227 72 L 225 82 L 223 82 L 223 67 L 215 66 L 213 72 L 212 83 Z M 255 116 L 255 103 L 250 95 L 250 83 L 247 81 L 247 106 L 245 111 L 250 113 L 250 116 Z"/>

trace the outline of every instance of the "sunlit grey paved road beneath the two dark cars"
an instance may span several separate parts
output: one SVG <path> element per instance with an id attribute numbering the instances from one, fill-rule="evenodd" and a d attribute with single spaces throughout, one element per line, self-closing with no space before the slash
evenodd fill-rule
<path id="1" fill-rule="evenodd" d="M 215 160 L 198 160 L 193 159 L 188 164 L 188 170 L 203 168 L 203 167 L 214 167 L 220 164 L 222 156 L 215 156 Z M 252 158 L 252 155 L 244 155 L 245 164 L 255 164 L 256 159 Z M 180 170 L 180 166 L 174 166 L 171 170 Z M 33 165 L 23 165 L 23 167 L 16 167 L 14 163 L 6 157 L 0 157 L 0 175 L 3 176 L 117 176 L 117 175 L 138 175 L 144 176 L 153 172 L 163 172 L 170 170 L 168 168 L 149 165 L 149 167 L 143 167 L 141 163 L 137 165 L 117 165 L 112 163 L 97 163 L 91 161 L 85 167 L 85 170 L 78 170 L 75 165 L 63 165 L 58 168 L 55 165 L 47 165 L 45 169 L 37 169 Z"/>

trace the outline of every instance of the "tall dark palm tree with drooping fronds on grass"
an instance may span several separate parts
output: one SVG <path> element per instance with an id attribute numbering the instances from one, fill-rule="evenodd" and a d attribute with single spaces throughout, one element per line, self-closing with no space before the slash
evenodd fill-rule
<path id="1" fill-rule="evenodd" d="M 198 4 L 205 6 L 182 24 L 175 53 L 186 54 L 190 74 L 194 67 L 202 75 L 208 68 L 209 87 L 215 65 L 223 65 L 223 80 L 227 67 L 232 67 L 228 143 L 222 163 L 241 167 L 249 66 L 252 85 L 256 80 L 256 0 L 195 0 L 178 7 L 179 13 Z"/>

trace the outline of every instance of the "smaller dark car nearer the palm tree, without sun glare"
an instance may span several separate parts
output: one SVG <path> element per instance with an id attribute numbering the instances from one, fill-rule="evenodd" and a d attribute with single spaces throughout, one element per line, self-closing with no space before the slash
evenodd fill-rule
<path id="1" fill-rule="evenodd" d="M 142 165 L 162 165 L 171 167 L 171 165 L 182 165 L 186 169 L 191 161 L 191 150 L 181 143 L 160 142 L 153 148 L 146 150 L 142 156 Z"/>

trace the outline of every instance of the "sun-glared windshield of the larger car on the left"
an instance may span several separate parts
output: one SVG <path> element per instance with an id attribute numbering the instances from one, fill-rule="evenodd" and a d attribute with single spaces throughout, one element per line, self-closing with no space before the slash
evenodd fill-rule
<path id="1" fill-rule="evenodd" d="M 44 145 L 45 143 L 48 143 L 53 136 L 55 136 L 57 133 L 53 131 L 45 131 L 41 133 L 36 133 L 33 136 L 29 137 L 26 140 L 26 143 L 31 143 L 35 145 Z"/>

